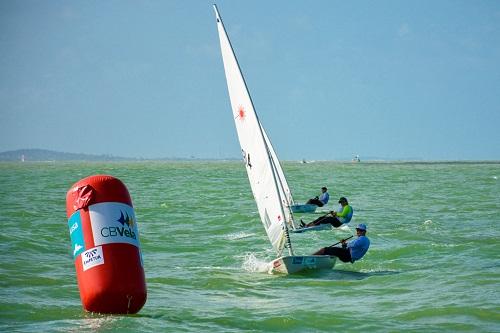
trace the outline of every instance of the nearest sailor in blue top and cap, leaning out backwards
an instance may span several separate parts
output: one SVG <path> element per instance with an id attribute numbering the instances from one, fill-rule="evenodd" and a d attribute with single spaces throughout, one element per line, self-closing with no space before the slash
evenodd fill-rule
<path id="1" fill-rule="evenodd" d="M 349 243 L 343 239 L 342 247 L 328 246 L 320 249 L 314 254 L 335 256 L 343 262 L 354 263 L 361 259 L 370 247 L 370 240 L 366 237 L 366 224 L 358 224 L 356 227 L 356 234 L 358 238 Z"/>

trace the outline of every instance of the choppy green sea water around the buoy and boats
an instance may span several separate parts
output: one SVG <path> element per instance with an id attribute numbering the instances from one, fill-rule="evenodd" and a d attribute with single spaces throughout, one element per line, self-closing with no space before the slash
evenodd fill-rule
<path id="1" fill-rule="evenodd" d="M 328 186 L 327 209 L 339 196 L 355 209 L 350 230 L 293 234 L 296 254 L 365 223 L 361 261 L 267 274 L 274 253 L 239 161 L 0 163 L 0 331 L 500 332 L 500 164 L 283 168 L 296 201 Z M 137 315 L 80 303 L 65 195 L 94 174 L 134 203 L 148 288 Z"/>

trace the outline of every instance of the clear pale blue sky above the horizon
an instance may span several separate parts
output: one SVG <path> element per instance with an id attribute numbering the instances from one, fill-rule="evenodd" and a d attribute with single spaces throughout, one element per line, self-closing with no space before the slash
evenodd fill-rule
<path id="1" fill-rule="evenodd" d="M 0 1 L 0 151 L 239 158 L 214 1 Z M 216 1 L 282 160 L 500 160 L 500 1 Z"/>

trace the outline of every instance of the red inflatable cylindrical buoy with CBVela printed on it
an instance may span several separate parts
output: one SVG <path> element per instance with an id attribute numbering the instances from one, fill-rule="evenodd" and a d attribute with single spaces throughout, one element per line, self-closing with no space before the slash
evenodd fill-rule
<path id="1" fill-rule="evenodd" d="M 146 280 L 125 185 L 107 175 L 84 178 L 68 191 L 66 211 L 84 309 L 137 313 L 146 303 Z"/>

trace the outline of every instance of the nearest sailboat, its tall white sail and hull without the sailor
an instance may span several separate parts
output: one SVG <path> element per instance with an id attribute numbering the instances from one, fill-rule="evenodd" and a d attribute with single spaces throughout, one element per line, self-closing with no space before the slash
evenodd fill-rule
<path id="1" fill-rule="evenodd" d="M 289 234 L 289 228 L 295 228 L 289 203 L 290 188 L 284 181 L 283 170 L 276 152 L 255 112 L 252 98 L 216 5 L 214 10 L 231 109 L 245 169 L 260 220 L 271 246 L 276 251 L 276 259 L 269 263 L 269 272 L 293 274 L 304 270 L 331 269 L 335 265 L 335 257 L 294 255 Z"/>

